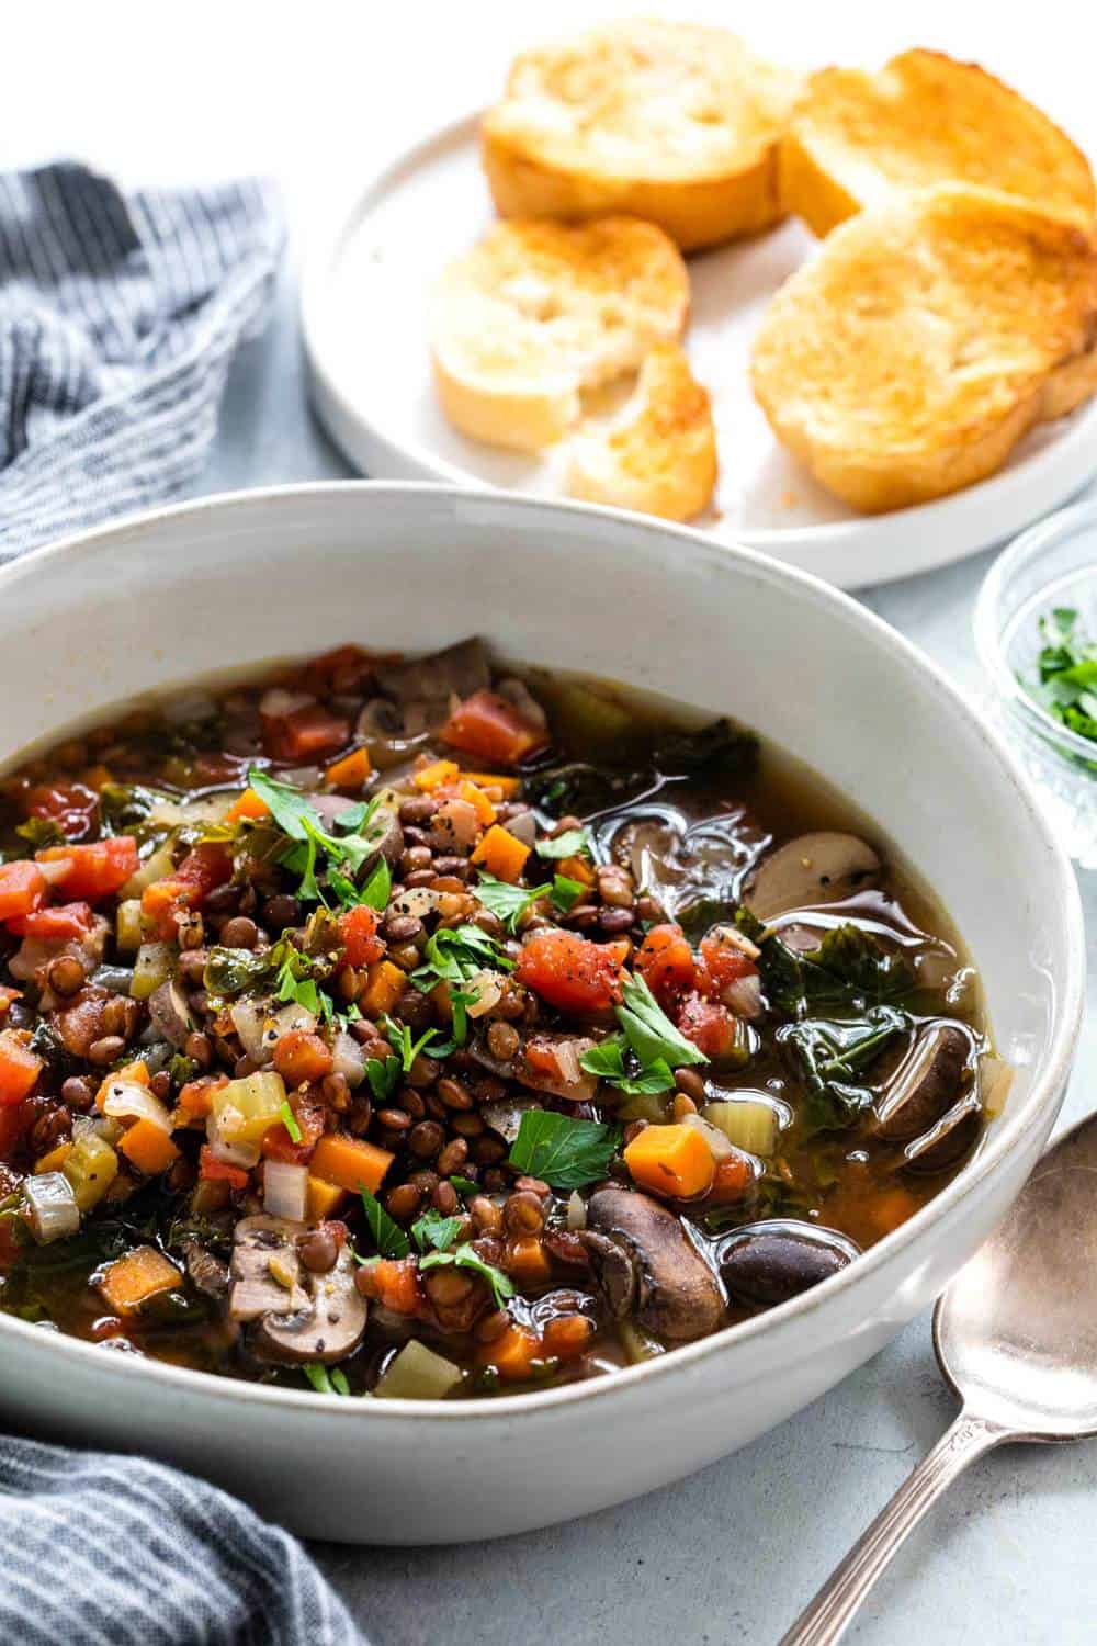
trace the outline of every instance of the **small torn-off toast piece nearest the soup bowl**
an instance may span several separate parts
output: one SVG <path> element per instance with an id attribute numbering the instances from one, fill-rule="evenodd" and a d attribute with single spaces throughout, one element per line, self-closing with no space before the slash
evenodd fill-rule
<path id="1" fill-rule="evenodd" d="M 691 520 L 715 489 L 715 430 L 709 395 L 678 344 L 653 349 L 617 423 L 581 433 L 567 491 L 664 520 Z"/>

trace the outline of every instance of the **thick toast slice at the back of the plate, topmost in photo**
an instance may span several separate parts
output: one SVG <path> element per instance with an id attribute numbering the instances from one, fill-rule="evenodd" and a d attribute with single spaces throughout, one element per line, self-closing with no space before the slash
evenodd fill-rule
<path id="1" fill-rule="evenodd" d="M 658 222 L 691 252 L 776 222 L 798 77 L 720 28 L 633 20 L 520 56 L 484 117 L 502 217 Z"/>

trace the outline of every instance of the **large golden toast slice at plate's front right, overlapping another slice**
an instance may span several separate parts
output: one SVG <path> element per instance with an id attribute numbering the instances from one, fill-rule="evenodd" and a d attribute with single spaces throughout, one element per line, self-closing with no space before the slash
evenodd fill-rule
<path id="1" fill-rule="evenodd" d="M 775 435 L 854 509 L 993 474 L 1097 390 L 1097 240 L 964 184 L 893 194 L 773 298 L 752 384 Z"/>

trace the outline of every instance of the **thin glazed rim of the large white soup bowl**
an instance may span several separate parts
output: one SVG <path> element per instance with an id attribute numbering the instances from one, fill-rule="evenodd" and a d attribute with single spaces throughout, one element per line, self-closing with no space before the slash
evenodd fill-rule
<path id="1" fill-rule="evenodd" d="M 975 1159 L 972 1159 L 967 1167 L 949 1185 L 946 1185 L 946 1188 L 941 1190 L 941 1193 L 916 1211 L 914 1216 L 908 1218 L 908 1221 L 900 1228 L 877 1241 L 875 1246 L 872 1246 L 867 1253 L 862 1253 L 855 1262 L 849 1264 L 849 1267 L 831 1276 L 811 1290 L 803 1292 L 799 1297 L 765 1310 L 765 1314 L 738 1322 L 737 1325 L 724 1327 L 720 1332 L 697 1338 L 692 1343 L 684 1343 L 679 1348 L 643 1361 L 641 1365 L 622 1368 L 610 1376 L 590 1378 L 584 1383 L 564 1384 L 556 1389 L 505 1394 L 480 1401 L 396 1399 L 344 1402 L 332 1401 L 331 1396 L 316 1394 L 312 1391 L 283 1389 L 268 1384 L 247 1383 L 237 1378 L 217 1376 L 215 1373 L 173 1366 L 166 1361 L 146 1356 L 125 1353 L 113 1356 L 104 1355 L 102 1345 L 89 1343 L 82 1338 L 69 1337 L 56 1330 L 49 1332 L 49 1353 L 58 1355 L 61 1363 L 71 1363 L 74 1371 L 82 1371 L 95 1378 L 138 1379 L 138 1384 L 135 1386 L 140 1386 L 140 1381 L 151 1378 L 153 1383 L 164 1389 L 164 1393 L 174 1389 L 179 1396 L 209 1402 L 211 1406 L 219 1402 L 227 1402 L 230 1406 L 235 1402 L 260 1402 L 285 1412 L 296 1411 L 303 1414 L 322 1414 L 327 1420 L 342 1420 L 347 1427 L 350 1427 L 362 1425 L 363 1420 L 398 1424 L 406 1422 L 408 1419 L 416 1419 L 419 1424 L 488 1422 L 492 1419 L 505 1420 L 518 1416 L 520 1412 L 526 1412 L 528 1419 L 533 1420 L 536 1414 L 546 1414 L 559 1409 L 566 1411 L 581 1402 L 595 1399 L 605 1401 L 613 1394 L 620 1394 L 620 1397 L 623 1397 L 640 1384 L 655 1383 L 656 1379 L 668 1376 L 673 1378 L 679 1373 L 684 1374 L 687 1368 L 734 1351 L 740 1345 L 753 1343 L 765 1333 L 770 1333 L 771 1337 L 788 1335 L 794 1325 L 808 1320 L 832 1299 L 837 1299 L 839 1295 L 857 1287 L 862 1279 L 867 1279 L 873 1271 L 886 1264 L 890 1258 L 914 1236 L 929 1233 L 934 1225 L 944 1223 L 964 1202 L 970 1200 L 979 1185 L 984 1183 L 985 1179 L 988 1179 L 1010 1155 L 1023 1131 L 1044 1114 L 1046 1109 L 1054 1108 L 1058 1103 L 1077 1045 L 1085 989 L 1085 935 L 1082 923 L 1082 902 L 1066 849 L 1051 833 L 1051 826 L 1039 807 L 1030 780 L 1025 777 L 1023 769 L 1010 752 L 1002 736 L 980 719 L 959 686 L 947 678 L 933 658 L 926 657 L 916 645 L 913 645 L 913 642 L 898 634 L 898 630 L 891 629 L 891 625 L 882 617 L 862 606 L 850 594 L 822 583 L 819 578 L 814 578 L 799 568 L 773 560 L 758 550 L 717 543 L 706 538 L 699 532 L 692 532 L 689 527 L 671 525 L 661 520 L 645 520 L 617 509 L 571 500 L 528 497 L 518 492 L 500 491 L 497 487 L 474 489 L 467 486 L 447 486 L 424 481 L 306 481 L 288 486 L 265 486 L 247 491 L 215 492 L 207 497 L 169 504 L 137 515 L 128 515 L 123 520 L 109 522 L 87 532 L 69 533 L 30 555 L 8 561 L 0 566 L 0 599 L 23 578 L 38 576 L 41 570 L 49 571 L 49 568 L 53 568 L 58 561 L 76 561 L 84 556 L 109 551 L 118 542 L 132 540 L 133 537 L 140 537 L 173 520 L 189 518 L 197 525 L 204 525 L 206 522 L 215 520 L 219 515 L 230 515 L 237 510 L 258 510 L 266 507 L 280 509 L 281 505 L 293 502 L 311 502 L 322 510 L 326 505 L 345 504 L 355 497 L 363 500 L 367 507 L 372 505 L 372 499 L 377 499 L 378 505 L 383 505 L 386 499 L 398 505 L 400 500 L 426 497 L 437 502 L 447 502 L 457 509 L 472 504 L 477 510 L 487 509 L 490 514 L 498 512 L 500 515 L 520 510 L 528 515 L 543 515 L 551 518 L 553 515 L 566 512 L 569 515 L 589 518 L 590 530 L 594 533 L 599 530 L 612 533 L 627 532 L 640 533 L 663 543 L 678 543 L 681 550 L 691 555 L 699 555 L 714 566 L 729 558 L 732 561 L 742 561 L 750 568 L 753 578 L 770 584 L 793 584 L 803 597 L 812 601 L 821 611 L 835 616 L 854 627 L 868 630 L 870 634 L 875 634 L 877 639 L 886 639 L 886 645 L 891 653 L 896 658 L 901 658 L 908 670 L 919 673 L 942 700 L 942 708 L 946 708 L 951 716 L 959 714 L 959 718 L 967 723 L 972 734 L 977 736 L 1000 762 L 1008 780 L 1016 790 L 1018 803 L 1028 813 L 1036 835 L 1043 841 L 1049 866 L 1058 881 L 1058 907 L 1064 922 L 1067 946 L 1067 968 L 1066 976 L 1059 979 L 1059 989 L 1056 993 L 1048 1057 L 1043 1060 L 1041 1068 L 1035 1072 L 1033 1090 L 1023 1108 L 1020 1108 L 1016 1114 L 1003 1116 L 998 1121 L 998 1126 L 992 1129 L 985 1147 L 975 1155 Z M 783 1328 L 786 1330 L 783 1332 Z M 16 1320 L 12 1315 L 0 1314 L 0 1338 L 3 1337 L 8 1337 L 16 1343 L 21 1341 L 26 1346 L 35 1345 L 35 1348 L 41 1348 L 43 1328 L 25 1320 Z"/>

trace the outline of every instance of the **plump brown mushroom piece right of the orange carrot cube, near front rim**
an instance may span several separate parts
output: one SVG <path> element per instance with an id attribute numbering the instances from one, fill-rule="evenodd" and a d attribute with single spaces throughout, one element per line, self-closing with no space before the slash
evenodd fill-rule
<path id="1" fill-rule="evenodd" d="M 599 1188 L 579 1239 L 590 1253 L 610 1312 L 635 1314 L 656 1337 L 684 1343 L 724 1318 L 719 1282 L 689 1243 L 681 1218 L 648 1195 Z"/>

